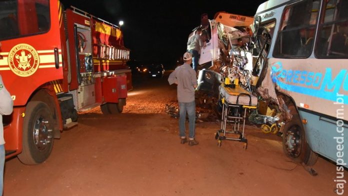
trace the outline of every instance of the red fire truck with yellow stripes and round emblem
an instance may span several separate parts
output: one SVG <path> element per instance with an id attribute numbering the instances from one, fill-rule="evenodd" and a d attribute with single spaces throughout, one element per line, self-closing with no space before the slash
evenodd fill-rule
<path id="1" fill-rule="evenodd" d="M 131 89 L 120 28 L 59 0 L 0 0 L 0 74 L 14 101 L 6 158 L 43 162 L 77 112 L 119 113 Z"/>

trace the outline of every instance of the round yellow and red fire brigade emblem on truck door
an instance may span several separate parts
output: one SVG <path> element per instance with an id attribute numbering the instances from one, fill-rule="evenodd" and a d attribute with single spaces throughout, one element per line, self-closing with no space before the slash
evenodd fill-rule
<path id="1" fill-rule="evenodd" d="M 32 75 L 37 70 L 39 62 L 37 51 L 29 44 L 15 45 L 8 53 L 9 68 L 21 77 Z"/>

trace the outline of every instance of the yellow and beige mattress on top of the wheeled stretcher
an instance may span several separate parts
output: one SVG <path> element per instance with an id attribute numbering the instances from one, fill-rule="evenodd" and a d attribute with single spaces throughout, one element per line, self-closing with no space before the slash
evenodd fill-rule
<path id="1" fill-rule="evenodd" d="M 230 87 L 225 87 L 223 85 L 220 85 L 218 88 L 222 96 L 225 97 L 225 100 L 229 104 L 236 104 L 237 96 L 239 93 L 250 94 L 248 91 L 246 91 L 244 88 L 240 86 L 235 86 L 235 88 L 230 88 Z M 250 94 L 250 96 L 251 96 L 251 105 L 257 105 L 257 97 L 252 94 Z M 250 99 L 249 99 L 249 96 L 247 95 L 240 95 L 238 98 L 238 104 L 249 105 L 249 101 Z"/>

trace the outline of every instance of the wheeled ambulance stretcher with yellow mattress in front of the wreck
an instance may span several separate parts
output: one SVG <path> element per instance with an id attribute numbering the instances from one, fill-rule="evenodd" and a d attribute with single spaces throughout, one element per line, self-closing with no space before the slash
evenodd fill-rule
<path id="1" fill-rule="evenodd" d="M 220 147 L 224 139 L 236 140 L 244 142 L 244 148 L 246 149 L 247 139 L 244 137 L 246 111 L 257 108 L 257 97 L 239 85 L 230 88 L 225 84 L 221 84 L 219 92 L 222 113 L 221 128 L 215 134 L 217 145 Z M 242 123 L 241 131 L 239 131 L 240 123 Z M 227 124 L 232 126 L 232 130 L 226 130 Z"/>

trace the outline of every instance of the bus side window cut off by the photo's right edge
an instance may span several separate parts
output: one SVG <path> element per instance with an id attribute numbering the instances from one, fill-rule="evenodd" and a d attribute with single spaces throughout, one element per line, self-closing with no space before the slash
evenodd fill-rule
<path id="1" fill-rule="evenodd" d="M 327 0 L 314 49 L 318 58 L 348 57 L 348 1 Z"/>

